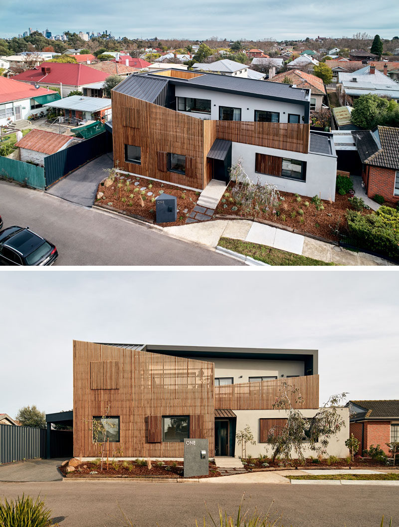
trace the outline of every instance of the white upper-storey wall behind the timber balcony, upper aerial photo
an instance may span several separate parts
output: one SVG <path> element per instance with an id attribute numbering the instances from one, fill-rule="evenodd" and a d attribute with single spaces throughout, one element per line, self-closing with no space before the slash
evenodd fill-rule
<path id="1" fill-rule="evenodd" d="M 304 115 L 304 106 L 302 104 L 271 101 L 269 99 L 261 99 L 260 97 L 248 97 L 245 95 L 238 95 L 235 93 L 217 92 L 212 90 L 201 90 L 197 87 L 191 86 L 176 86 L 175 95 L 177 97 L 196 97 L 197 99 L 211 100 L 211 114 L 192 114 L 195 117 L 199 116 L 201 119 L 219 120 L 219 106 L 231 106 L 232 108 L 241 108 L 241 121 L 254 121 L 255 110 L 267 110 L 270 112 L 280 113 L 280 123 L 288 122 L 288 114 L 296 113 L 300 115 L 300 122 Z"/>

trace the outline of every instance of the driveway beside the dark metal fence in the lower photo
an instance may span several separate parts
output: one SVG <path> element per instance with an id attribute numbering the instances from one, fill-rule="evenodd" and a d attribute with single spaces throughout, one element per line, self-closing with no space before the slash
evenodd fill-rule
<path id="1" fill-rule="evenodd" d="M 63 457 L 2 465 L 0 466 L 0 482 L 61 481 L 62 475 L 57 466 L 60 466 L 64 460 Z"/>

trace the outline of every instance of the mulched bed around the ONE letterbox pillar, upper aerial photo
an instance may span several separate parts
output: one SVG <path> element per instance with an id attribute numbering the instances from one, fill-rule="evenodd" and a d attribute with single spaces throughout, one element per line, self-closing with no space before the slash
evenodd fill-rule
<path id="1" fill-rule="evenodd" d="M 97 206 L 105 206 L 117 212 L 123 211 L 126 214 L 142 218 L 151 223 L 155 223 L 156 217 L 155 198 L 162 193 L 176 196 L 178 209 L 177 221 L 160 223 L 159 225 L 162 227 L 184 225 L 190 212 L 196 206 L 200 194 L 194 190 L 174 187 L 173 185 L 161 183 L 157 180 L 137 178 L 131 174 L 123 174 L 119 178 L 115 177 L 109 187 L 106 187 L 105 184 L 100 184 L 98 192 L 103 192 L 104 196 L 95 201 Z"/>

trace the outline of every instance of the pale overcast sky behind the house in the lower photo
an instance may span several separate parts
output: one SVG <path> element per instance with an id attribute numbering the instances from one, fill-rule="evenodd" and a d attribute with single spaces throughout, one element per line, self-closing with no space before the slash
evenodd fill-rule
<path id="1" fill-rule="evenodd" d="M 318 349 L 320 403 L 398 398 L 391 269 L 0 271 L 0 413 L 72 409 L 73 339 Z"/>

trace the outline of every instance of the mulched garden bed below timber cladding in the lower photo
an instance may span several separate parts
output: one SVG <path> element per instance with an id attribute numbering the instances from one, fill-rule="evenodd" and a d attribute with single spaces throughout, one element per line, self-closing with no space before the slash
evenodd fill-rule
<path id="1" fill-rule="evenodd" d="M 147 464 L 140 464 L 139 460 L 135 461 L 109 461 L 108 469 L 106 460 L 103 463 L 103 470 L 101 470 L 101 462 L 96 461 L 82 461 L 79 465 L 74 467 L 73 472 L 67 472 L 67 464 L 60 466 L 59 469 L 64 477 L 79 478 L 79 477 L 150 477 L 160 479 L 182 478 L 183 477 L 183 462 L 182 461 L 152 461 L 151 469 Z M 193 476 L 196 479 L 203 477 L 218 477 L 220 476 L 215 462 L 209 462 L 209 474 L 207 476 Z"/>

